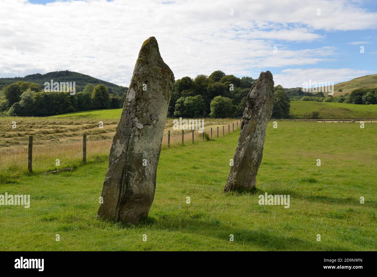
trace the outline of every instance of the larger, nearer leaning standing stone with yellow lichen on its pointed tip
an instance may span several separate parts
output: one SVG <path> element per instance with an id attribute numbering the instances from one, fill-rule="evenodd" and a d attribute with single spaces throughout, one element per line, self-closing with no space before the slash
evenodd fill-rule
<path id="1" fill-rule="evenodd" d="M 173 72 L 150 37 L 140 49 L 113 138 L 97 218 L 136 224 L 148 215 L 173 84 Z"/>

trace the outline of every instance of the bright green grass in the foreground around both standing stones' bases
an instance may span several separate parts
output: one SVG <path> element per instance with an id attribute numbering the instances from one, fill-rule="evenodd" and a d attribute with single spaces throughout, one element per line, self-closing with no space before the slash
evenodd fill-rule
<path id="1" fill-rule="evenodd" d="M 359 126 L 270 122 L 251 193 L 222 192 L 238 132 L 163 147 L 149 217 L 133 227 L 95 219 L 106 155 L 72 172 L 0 179 L 0 194 L 31 195 L 29 209 L 0 206 L 0 250 L 375 251 L 377 124 Z M 265 192 L 290 195 L 290 208 L 258 205 Z"/>

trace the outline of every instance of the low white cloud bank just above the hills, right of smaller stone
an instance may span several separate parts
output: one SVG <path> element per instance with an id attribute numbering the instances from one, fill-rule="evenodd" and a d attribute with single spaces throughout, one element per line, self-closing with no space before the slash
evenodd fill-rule
<path id="1" fill-rule="evenodd" d="M 308 68 L 308 69 L 285 69 L 280 74 L 274 75 L 275 85 L 282 85 L 288 87 L 302 87 L 303 82 L 311 80 L 313 82 L 334 82 L 334 84 L 349 81 L 351 79 L 375 74 L 368 70 L 354 70 L 351 68 Z"/>

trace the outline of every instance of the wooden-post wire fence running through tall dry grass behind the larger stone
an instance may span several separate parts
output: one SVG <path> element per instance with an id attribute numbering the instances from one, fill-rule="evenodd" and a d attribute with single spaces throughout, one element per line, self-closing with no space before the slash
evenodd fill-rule
<path id="1" fill-rule="evenodd" d="M 165 130 L 162 148 L 177 145 L 192 145 L 195 142 L 214 140 L 224 137 L 241 127 L 241 120 L 228 125 L 210 125 L 200 130 Z M 29 135 L 28 147 L 13 146 L 0 149 L 0 171 L 46 172 L 71 166 L 78 161 L 86 163 L 88 159 L 98 159 L 99 155 L 109 155 L 112 139 L 90 140 L 90 135 L 83 134 L 83 139 L 75 142 L 55 142 L 40 144 Z"/>

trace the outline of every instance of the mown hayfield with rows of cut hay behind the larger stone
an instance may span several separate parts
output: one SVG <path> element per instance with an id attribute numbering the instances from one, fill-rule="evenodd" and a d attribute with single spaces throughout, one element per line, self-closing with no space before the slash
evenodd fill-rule
<path id="1" fill-rule="evenodd" d="M 14 123 L 15 122 L 15 126 Z M 103 128 L 100 128 L 100 122 Z M 45 117 L 5 117 L 0 119 L 0 149 L 9 146 L 28 144 L 29 135 L 34 136 L 34 140 L 38 145 L 53 145 L 81 141 L 83 134 L 90 136 L 90 140 L 112 139 L 119 119 L 52 119 Z M 239 120 L 235 119 L 205 119 L 205 131 L 213 128 L 213 132 L 217 126 L 221 128 L 228 125 L 232 128 L 232 123 L 236 124 Z M 15 128 L 13 128 L 13 126 Z M 167 119 L 165 123 L 164 135 L 167 136 L 168 131 L 172 136 L 181 134 L 180 130 L 173 129 L 173 119 Z M 186 133 L 191 131 L 185 130 Z M 215 133 L 213 133 L 215 135 Z"/>

